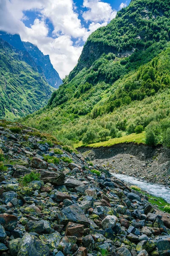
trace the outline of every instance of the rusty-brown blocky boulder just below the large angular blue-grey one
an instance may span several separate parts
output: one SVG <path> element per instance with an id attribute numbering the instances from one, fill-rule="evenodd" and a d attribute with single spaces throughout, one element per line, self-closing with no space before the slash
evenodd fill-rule
<path id="1" fill-rule="evenodd" d="M 76 236 L 77 241 L 81 243 L 83 233 L 84 233 L 84 225 L 68 222 L 65 230 L 65 236 Z"/>

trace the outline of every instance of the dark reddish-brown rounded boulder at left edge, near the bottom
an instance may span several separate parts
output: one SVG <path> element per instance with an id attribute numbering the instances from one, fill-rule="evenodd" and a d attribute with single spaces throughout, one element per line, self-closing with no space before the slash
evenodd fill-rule
<path id="1" fill-rule="evenodd" d="M 0 214 L 0 224 L 3 225 L 5 230 L 12 231 L 17 226 L 17 216 L 13 214 L 3 213 Z"/>

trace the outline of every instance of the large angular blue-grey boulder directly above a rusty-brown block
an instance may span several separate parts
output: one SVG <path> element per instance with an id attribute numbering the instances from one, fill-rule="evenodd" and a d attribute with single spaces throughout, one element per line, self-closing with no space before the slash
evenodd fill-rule
<path id="1" fill-rule="evenodd" d="M 88 218 L 77 204 L 65 207 L 61 212 L 58 212 L 57 220 L 59 224 L 67 224 L 70 221 L 83 224 L 85 227 L 90 227 Z"/>

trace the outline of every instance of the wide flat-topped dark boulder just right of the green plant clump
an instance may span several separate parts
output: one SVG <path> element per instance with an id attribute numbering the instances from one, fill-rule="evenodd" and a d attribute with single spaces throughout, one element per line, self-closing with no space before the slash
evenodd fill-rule
<path id="1" fill-rule="evenodd" d="M 53 172 L 47 170 L 40 170 L 41 180 L 44 183 L 51 183 L 54 186 L 60 186 L 64 184 L 65 174 L 61 171 Z"/>

